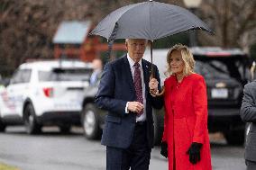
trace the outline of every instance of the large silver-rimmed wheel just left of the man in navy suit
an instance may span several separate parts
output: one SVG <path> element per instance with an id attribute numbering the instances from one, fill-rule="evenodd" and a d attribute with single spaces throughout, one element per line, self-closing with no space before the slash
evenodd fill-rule
<path id="1" fill-rule="evenodd" d="M 96 106 L 93 103 L 87 103 L 82 112 L 82 125 L 87 139 L 98 139 L 99 120 L 96 112 Z"/>

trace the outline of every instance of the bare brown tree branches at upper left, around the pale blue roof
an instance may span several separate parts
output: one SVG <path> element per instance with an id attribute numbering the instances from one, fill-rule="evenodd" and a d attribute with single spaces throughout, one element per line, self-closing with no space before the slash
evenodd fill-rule
<path id="1" fill-rule="evenodd" d="M 52 58 L 52 37 L 63 20 L 85 20 L 84 0 L 1 0 L 0 65 L 9 74 L 27 58 Z"/>

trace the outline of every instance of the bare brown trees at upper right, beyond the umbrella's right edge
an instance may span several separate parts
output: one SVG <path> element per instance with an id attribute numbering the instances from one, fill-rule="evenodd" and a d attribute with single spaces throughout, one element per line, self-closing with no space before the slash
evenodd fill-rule
<path id="1" fill-rule="evenodd" d="M 241 47 L 248 52 L 256 42 L 255 0 L 205 0 L 202 17 L 215 30 L 215 36 L 204 34 L 201 41 L 208 45 Z"/>

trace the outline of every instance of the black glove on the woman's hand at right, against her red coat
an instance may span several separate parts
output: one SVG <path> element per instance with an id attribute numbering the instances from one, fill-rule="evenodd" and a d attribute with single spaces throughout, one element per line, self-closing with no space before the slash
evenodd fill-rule
<path id="1" fill-rule="evenodd" d="M 191 164 L 197 164 L 201 160 L 200 157 L 200 150 L 202 148 L 203 144 L 193 142 L 187 150 L 187 155 L 189 155 L 189 162 Z"/>

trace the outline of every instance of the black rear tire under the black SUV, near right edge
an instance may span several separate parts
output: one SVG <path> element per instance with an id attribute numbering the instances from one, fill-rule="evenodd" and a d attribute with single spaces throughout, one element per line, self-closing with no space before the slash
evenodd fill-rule
<path id="1" fill-rule="evenodd" d="M 242 145 L 244 142 L 244 130 L 231 130 L 225 132 L 224 137 L 229 145 Z"/>

